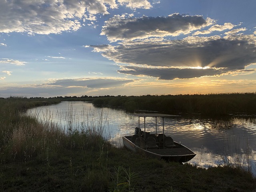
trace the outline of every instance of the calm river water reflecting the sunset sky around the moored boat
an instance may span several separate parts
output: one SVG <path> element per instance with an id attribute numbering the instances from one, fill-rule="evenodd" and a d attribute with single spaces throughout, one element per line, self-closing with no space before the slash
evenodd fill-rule
<path id="1" fill-rule="evenodd" d="M 57 123 L 64 129 L 73 130 L 103 126 L 107 138 L 122 146 L 122 136 L 133 134 L 138 126 L 138 117 L 122 110 L 95 108 L 88 102 L 61 102 L 28 111 L 45 122 Z M 155 133 L 155 118 L 146 118 L 146 130 Z M 157 118 L 158 133 L 162 132 L 162 118 Z M 140 118 L 144 129 L 144 118 Z M 248 163 L 256 175 L 256 118 L 232 117 L 228 120 L 199 118 L 164 118 L 164 132 L 181 142 L 197 155 L 190 163 L 208 168 L 223 160 Z"/>

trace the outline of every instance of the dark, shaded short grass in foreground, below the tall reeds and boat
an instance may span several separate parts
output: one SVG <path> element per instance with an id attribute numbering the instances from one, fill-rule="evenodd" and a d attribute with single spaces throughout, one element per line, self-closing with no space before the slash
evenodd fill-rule
<path id="1" fill-rule="evenodd" d="M 46 150 L 27 162 L 1 163 L 2 191 L 249 192 L 255 178 L 228 166 L 167 163 L 107 144 L 102 149 Z"/>

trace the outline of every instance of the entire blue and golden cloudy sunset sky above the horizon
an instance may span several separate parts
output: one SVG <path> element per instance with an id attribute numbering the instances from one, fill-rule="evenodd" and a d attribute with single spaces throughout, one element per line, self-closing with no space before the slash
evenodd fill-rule
<path id="1" fill-rule="evenodd" d="M 255 0 L 1 0 L 0 97 L 256 92 Z"/>

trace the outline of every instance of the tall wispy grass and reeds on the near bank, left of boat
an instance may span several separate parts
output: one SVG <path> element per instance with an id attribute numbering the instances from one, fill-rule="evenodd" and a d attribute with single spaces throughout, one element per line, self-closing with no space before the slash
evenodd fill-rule
<path id="1" fill-rule="evenodd" d="M 39 119 L 37 114 L 24 113 L 27 106 L 27 99 L 24 98 L 0 100 L 1 161 L 26 162 L 38 155 L 47 154 L 49 149 L 52 153 L 65 149 L 99 150 L 105 142 L 107 122 L 104 122 L 103 114 L 100 114 L 97 121 L 91 119 L 88 122 L 87 118 L 78 124 L 74 119 L 76 112 L 71 106 L 65 117 L 67 126 L 60 127 L 53 121 L 50 111 L 46 110 L 44 118 Z"/>

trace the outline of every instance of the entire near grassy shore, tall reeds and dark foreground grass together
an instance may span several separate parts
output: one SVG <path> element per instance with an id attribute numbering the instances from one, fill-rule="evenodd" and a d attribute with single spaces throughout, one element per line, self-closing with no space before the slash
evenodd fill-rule
<path id="1" fill-rule="evenodd" d="M 112 146 L 102 136 L 104 126 L 86 127 L 81 132 L 70 128 L 67 132 L 51 122 L 38 122 L 21 113 L 34 106 L 30 101 L 35 102 L 26 98 L 0 99 L 0 191 L 256 189 L 256 178 L 239 166 L 226 164 L 206 170 L 168 163 Z"/>

